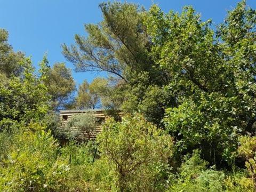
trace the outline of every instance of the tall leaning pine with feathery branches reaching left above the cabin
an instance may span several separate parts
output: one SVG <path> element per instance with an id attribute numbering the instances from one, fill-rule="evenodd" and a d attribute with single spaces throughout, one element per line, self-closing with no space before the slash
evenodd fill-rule
<path id="1" fill-rule="evenodd" d="M 154 100 L 159 94 L 153 90 L 164 92 L 162 86 L 169 75 L 148 54 L 151 37 L 144 22 L 146 10 L 126 2 L 102 3 L 100 9 L 102 22 L 85 25 L 89 36 L 75 35 L 76 44 L 63 44 L 63 54 L 74 63 L 76 71 L 106 71 L 119 77 L 116 87 L 110 89 L 110 97 L 102 99 L 107 108 L 142 111 L 148 120 L 159 124 L 158 117 L 163 117 L 164 107 L 172 105 L 173 100 L 164 96 Z M 152 106 L 149 101 L 154 101 Z"/>

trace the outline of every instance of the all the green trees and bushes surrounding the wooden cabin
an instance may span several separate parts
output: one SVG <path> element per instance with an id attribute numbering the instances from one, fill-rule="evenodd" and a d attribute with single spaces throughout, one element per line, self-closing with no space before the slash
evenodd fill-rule
<path id="1" fill-rule="evenodd" d="M 256 191 L 256 11 L 241 1 L 215 26 L 191 6 L 99 7 L 61 46 L 75 71 L 108 74 L 78 90 L 0 29 L 0 191 Z M 59 126 L 60 109 L 96 108 L 113 117 L 95 140 L 68 129 L 93 130 L 90 114 Z"/>

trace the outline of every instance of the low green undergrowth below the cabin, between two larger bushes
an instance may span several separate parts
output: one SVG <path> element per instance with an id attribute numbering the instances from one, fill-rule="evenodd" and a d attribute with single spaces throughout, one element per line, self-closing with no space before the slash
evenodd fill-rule
<path id="1" fill-rule="evenodd" d="M 71 156 L 70 171 L 66 181 L 70 191 L 95 191 L 101 186 L 109 186 L 107 180 L 109 168 L 106 162 L 99 159 L 93 163 L 95 147 L 97 146 L 90 141 L 79 145 L 71 142 L 61 149 L 62 158 L 69 159 Z M 95 158 L 98 158 L 98 155 Z"/>

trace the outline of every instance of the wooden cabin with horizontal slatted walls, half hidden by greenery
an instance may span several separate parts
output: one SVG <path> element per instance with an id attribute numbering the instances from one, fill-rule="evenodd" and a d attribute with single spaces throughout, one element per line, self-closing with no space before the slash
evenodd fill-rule
<path id="1" fill-rule="evenodd" d="M 95 139 L 96 135 L 102 131 L 102 123 L 106 121 L 109 117 L 107 115 L 107 111 L 103 109 L 82 109 L 82 110 L 60 110 L 60 127 L 65 129 L 67 126 L 68 121 L 72 118 L 75 114 L 85 114 L 89 113 L 96 118 L 96 125 L 95 131 L 90 132 L 83 132 L 78 135 L 78 139 Z M 115 111 L 117 115 L 117 119 L 121 121 L 122 113 L 121 111 Z M 76 127 L 72 127 L 71 131 L 76 132 L 78 129 Z"/>

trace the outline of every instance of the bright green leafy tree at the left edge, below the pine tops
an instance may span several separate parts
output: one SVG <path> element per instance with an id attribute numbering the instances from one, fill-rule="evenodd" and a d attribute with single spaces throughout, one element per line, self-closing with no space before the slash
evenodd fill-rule
<path id="1" fill-rule="evenodd" d="M 20 62 L 31 66 L 28 58 Z M 49 97 L 33 68 L 26 69 L 22 77 L 0 74 L 0 81 L 0 131 L 12 131 L 19 124 L 43 119 L 49 110 Z"/>

